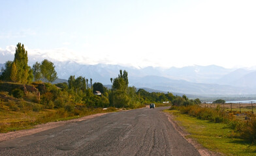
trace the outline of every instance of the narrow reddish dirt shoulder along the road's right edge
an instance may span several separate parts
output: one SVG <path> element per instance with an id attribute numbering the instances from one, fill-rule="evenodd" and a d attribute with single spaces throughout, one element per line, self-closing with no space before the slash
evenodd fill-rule
<path id="1" fill-rule="evenodd" d="M 218 155 L 221 155 L 220 153 L 216 153 L 214 151 L 210 151 L 210 150 L 204 148 L 196 140 L 193 140 L 192 138 L 187 138 L 186 136 L 188 136 L 190 134 L 185 131 L 184 127 L 180 126 L 178 124 L 178 122 L 174 120 L 174 115 L 172 115 L 168 112 L 164 112 L 164 113 L 167 115 L 167 118 L 168 118 L 169 122 L 172 124 L 172 126 L 174 127 L 174 129 L 176 129 L 176 131 L 178 131 L 178 133 L 180 133 L 180 135 L 182 137 L 184 137 L 185 140 L 187 140 L 187 142 L 192 144 L 199 151 L 200 155 L 202 155 L 202 156 L 218 156 Z"/>

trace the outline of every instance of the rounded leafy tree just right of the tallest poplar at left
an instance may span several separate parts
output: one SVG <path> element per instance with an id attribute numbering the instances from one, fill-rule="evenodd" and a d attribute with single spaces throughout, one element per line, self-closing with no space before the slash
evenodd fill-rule
<path id="1" fill-rule="evenodd" d="M 50 60 L 44 59 L 40 66 L 42 78 L 44 82 L 54 82 L 57 79 L 57 72 L 54 63 Z"/>

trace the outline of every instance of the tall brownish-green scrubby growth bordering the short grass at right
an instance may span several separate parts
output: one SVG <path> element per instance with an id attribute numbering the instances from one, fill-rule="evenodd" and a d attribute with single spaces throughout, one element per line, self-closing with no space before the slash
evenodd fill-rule
<path id="1" fill-rule="evenodd" d="M 240 133 L 240 137 L 249 142 L 256 143 L 256 118 L 251 117 L 248 121 L 236 120 L 232 113 L 225 112 L 219 107 L 211 109 L 200 107 L 199 105 L 172 106 L 170 109 L 180 110 L 184 114 L 199 118 L 200 120 L 209 120 L 216 123 L 227 123 L 232 129 Z"/>

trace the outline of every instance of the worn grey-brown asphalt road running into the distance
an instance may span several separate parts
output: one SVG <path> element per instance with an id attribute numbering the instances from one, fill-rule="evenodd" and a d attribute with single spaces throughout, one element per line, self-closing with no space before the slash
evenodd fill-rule
<path id="1" fill-rule="evenodd" d="M 162 109 L 114 112 L 0 142 L 0 155 L 200 155 Z"/>

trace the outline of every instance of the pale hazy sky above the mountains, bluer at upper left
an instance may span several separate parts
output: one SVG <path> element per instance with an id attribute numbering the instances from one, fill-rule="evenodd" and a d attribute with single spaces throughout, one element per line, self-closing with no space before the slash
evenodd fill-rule
<path id="1" fill-rule="evenodd" d="M 255 8 L 255 0 L 1 0 L 0 53 L 22 42 L 35 60 L 251 67 Z"/>

